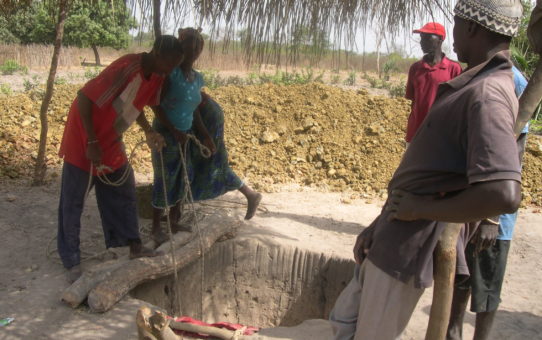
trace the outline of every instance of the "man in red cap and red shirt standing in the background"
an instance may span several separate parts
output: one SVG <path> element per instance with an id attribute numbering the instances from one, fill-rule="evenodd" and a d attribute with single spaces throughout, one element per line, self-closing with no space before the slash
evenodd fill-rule
<path id="1" fill-rule="evenodd" d="M 442 42 L 446 39 L 444 26 L 430 22 L 414 30 L 414 33 L 420 34 L 420 45 L 424 56 L 422 60 L 410 66 L 408 71 L 405 97 L 412 101 L 412 110 L 408 117 L 405 137 L 407 145 L 410 144 L 433 105 L 438 85 L 461 73 L 461 66 L 446 58 L 442 53 Z"/>

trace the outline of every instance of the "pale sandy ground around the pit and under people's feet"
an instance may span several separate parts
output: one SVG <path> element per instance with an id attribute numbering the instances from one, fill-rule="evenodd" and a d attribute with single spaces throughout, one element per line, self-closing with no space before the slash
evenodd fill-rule
<path id="1" fill-rule="evenodd" d="M 85 307 L 72 310 L 59 301 L 68 286 L 54 252 L 57 182 L 44 187 L 5 184 L 0 189 L 0 318 L 15 321 L 0 328 L 0 339 L 133 339 L 134 315 L 143 302 L 125 298 L 106 314 L 91 314 Z M 240 230 L 243 237 L 273 238 L 284 244 L 351 257 L 358 232 L 379 213 L 377 203 L 349 202 L 348 194 L 322 193 L 288 187 L 267 194 L 259 214 Z M 239 218 L 244 207 L 238 193 L 203 206 L 235 209 Z M 344 203 L 348 202 L 348 203 Z M 103 251 L 103 236 L 93 195 L 82 218 L 84 256 Z M 145 230 L 148 221 L 142 220 Z M 520 213 L 508 262 L 503 302 L 492 339 L 542 339 L 542 214 L 524 209 Z M 51 255 L 48 255 L 52 253 Z M 88 264 L 88 263 L 87 263 Z M 423 339 L 431 290 L 418 304 L 405 339 Z M 465 339 L 472 337 L 474 316 L 468 314 Z M 307 326 L 308 325 L 308 326 Z M 306 326 L 306 327 L 305 327 Z M 303 328 L 305 327 L 305 328 Z M 307 329 L 312 329 L 312 334 Z M 314 336 L 317 329 L 318 337 Z M 327 339 L 329 326 L 311 321 L 296 329 L 262 332 L 266 339 Z"/>

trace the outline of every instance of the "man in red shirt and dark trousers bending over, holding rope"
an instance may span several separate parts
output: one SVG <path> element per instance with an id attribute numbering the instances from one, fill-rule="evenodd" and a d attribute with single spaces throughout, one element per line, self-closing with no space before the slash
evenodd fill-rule
<path id="1" fill-rule="evenodd" d="M 157 255 L 141 244 L 134 174 L 126 158 L 122 134 L 137 120 L 149 146 L 161 148 L 163 138 L 152 130 L 142 111 L 146 105 L 158 105 L 164 76 L 182 57 L 178 40 L 161 36 L 150 53 L 129 54 L 115 60 L 87 82 L 73 101 L 60 146 L 64 166 L 57 235 L 58 253 L 69 270 L 70 281 L 81 275 L 81 213 L 92 186 L 106 247 L 129 245 L 131 258 Z"/>

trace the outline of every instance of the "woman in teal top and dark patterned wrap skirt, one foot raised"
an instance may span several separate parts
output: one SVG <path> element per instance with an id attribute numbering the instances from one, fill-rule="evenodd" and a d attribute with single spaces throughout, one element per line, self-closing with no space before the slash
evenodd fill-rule
<path id="1" fill-rule="evenodd" d="M 156 116 L 153 128 L 166 140 L 166 147 L 162 149 L 161 156 L 158 152 L 152 152 L 154 209 L 151 234 L 157 243 L 167 240 L 167 235 L 160 226 L 166 203 L 170 208 L 169 220 L 172 230 L 191 231 L 190 227 L 178 225 L 180 203 L 185 194 L 180 145 L 186 152 L 186 170 L 194 201 L 211 199 L 228 191 L 239 190 L 248 200 L 245 219 L 250 219 L 262 198 L 261 194 L 244 184 L 229 167 L 224 145 L 224 113 L 218 103 L 201 92 L 204 85 L 203 77 L 193 69 L 194 62 L 203 50 L 204 43 L 200 31 L 193 28 L 179 29 L 179 40 L 185 50 L 184 61 L 164 83 L 160 105 L 153 107 Z M 187 134 L 196 135 L 211 151 L 211 157 L 203 157 L 199 147 L 193 142 L 185 148 Z"/>

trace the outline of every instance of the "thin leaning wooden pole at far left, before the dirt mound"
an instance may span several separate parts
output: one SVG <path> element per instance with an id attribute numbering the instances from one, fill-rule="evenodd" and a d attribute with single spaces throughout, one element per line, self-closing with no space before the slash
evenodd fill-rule
<path id="1" fill-rule="evenodd" d="M 33 185 L 41 185 L 45 179 L 45 171 L 47 170 L 47 164 L 45 163 L 45 153 L 47 151 L 47 132 L 49 129 L 47 122 L 47 110 L 49 109 L 49 103 L 53 97 L 54 83 L 56 76 L 56 69 L 58 67 L 58 57 L 60 55 L 60 50 L 62 48 L 62 37 L 64 35 L 64 21 L 66 20 L 66 14 L 68 11 L 68 2 L 69 0 L 60 0 L 59 13 L 58 13 L 58 22 L 56 25 L 56 36 L 55 36 L 55 45 L 53 49 L 53 58 L 51 59 L 51 67 L 49 69 L 49 77 L 47 78 L 47 88 L 45 90 L 45 95 L 41 102 L 40 109 L 40 122 L 41 122 L 41 132 L 40 132 L 40 144 L 38 149 L 38 157 L 36 159 L 36 166 L 34 168 L 34 179 L 32 181 Z"/>

